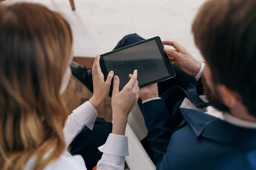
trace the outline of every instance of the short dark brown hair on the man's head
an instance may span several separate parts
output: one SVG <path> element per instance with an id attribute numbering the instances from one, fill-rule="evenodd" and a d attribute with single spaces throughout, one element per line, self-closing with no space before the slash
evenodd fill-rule
<path id="1" fill-rule="evenodd" d="M 256 0 L 209 0 L 192 32 L 212 82 L 238 93 L 256 117 Z"/>

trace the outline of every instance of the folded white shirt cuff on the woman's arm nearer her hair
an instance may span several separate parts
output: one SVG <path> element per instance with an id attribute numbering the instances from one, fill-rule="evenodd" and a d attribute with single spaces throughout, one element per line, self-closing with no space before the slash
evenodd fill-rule
<path id="1" fill-rule="evenodd" d="M 75 114 L 76 120 L 80 123 L 80 125 L 86 125 L 90 130 L 93 130 L 93 125 L 98 113 L 89 101 L 73 110 L 73 113 Z"/>

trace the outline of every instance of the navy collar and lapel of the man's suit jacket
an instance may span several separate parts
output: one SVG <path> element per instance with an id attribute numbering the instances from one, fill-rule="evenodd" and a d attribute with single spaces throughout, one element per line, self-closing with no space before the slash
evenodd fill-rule
<path id="1" fill-rule="evenodd" d="M 236 148 L 256 148 L 256 129 L 231 125 L 201 111 L 184 108 L 180 108 L 180 111 L 197 137 Z"/>

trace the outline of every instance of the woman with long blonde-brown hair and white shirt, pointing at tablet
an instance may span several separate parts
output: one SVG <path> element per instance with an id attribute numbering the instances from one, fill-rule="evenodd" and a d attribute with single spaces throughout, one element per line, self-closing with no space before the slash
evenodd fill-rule
<path id="1" fill-rule="evenodd" d="M 93 128 L 114 73 L 105 82 L 97 56 L 93 96 L 69 115 L 60 94 L 71 76 L 72 42 L 60 14 L 34 3 L 0 4 L 1 170 L 86 170 L 82 157 L 66 149 L 83 127 Z M 113 130 L 101 148 L 98 170 L 124 168 L 128 151 L 119 154 L 119 149 L 127 145 L 125 127 L 138 91 L 137 71 L 120 92 L 114 77 Z"/>

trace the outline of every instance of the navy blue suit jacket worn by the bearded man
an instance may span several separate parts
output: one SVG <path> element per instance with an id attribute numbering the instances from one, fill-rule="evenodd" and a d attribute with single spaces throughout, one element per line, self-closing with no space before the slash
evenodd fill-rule
<path id="1" fill-rule="evenodd" d="M 142 105 L 157 170 L 256 170 L 256 129 L 179 108 L 186 94 L 178 89 Z"/>

